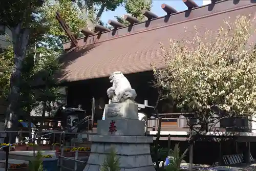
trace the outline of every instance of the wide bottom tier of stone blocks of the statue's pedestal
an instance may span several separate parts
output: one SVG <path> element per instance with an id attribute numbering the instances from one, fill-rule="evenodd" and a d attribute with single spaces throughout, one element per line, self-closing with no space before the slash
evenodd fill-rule
<path id="1" fill-rule="evenodd" d="M 121 171 L 155 171 L 150 155 L 153 137 L 91 136 L 91 154 L 83 171 L 100 171 L 106 155 L 113 147 L 119 158 Z"/>

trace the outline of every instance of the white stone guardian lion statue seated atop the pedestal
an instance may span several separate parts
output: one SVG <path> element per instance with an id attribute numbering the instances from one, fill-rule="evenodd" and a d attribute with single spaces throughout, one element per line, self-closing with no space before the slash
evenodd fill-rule
<path id="1" fill-rule="evenodd" d="M 120 71 L 113 72 L 109 79 L 113 83 L 113 86 L 106 91 L 110 98 L 109 103 L 121 103 L 127 99 L 134 101 L 137 96 L 136 91 Z"/>

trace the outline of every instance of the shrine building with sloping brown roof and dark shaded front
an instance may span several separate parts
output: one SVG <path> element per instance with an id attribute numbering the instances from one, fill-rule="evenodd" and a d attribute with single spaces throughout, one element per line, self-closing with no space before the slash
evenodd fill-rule
<path id="1" fill-rule="evenodd" d="M 159 8 L 166 12 L 165 16 L 142 10 L 147 18 L 144 22 L 124 15 L 129 26 L 109 20 L 114 29 L 100 25 L 96 25 L 94 31 L 83 28 L 84 37 L 79 39 L 57 14 L 60 24 L 71 38 L 63 44 L 65 55 L 60 59 L 63 66 L 58 75 L 60 85 L 67 87 L 67 106 L 81 105 L 83 110 L 89 112 L 93 97 L 101 99 L 101 105 L 107 103 L 106 90 L 111 86 L 108 77 L 114 71 L 121 71 L 131 82 L 137 92 L 136 102 L 148 100 L 148 105 L 154 106 L 158 92 L 153 88 L 151 64 L 164 67 L 159 42 L 168 49 L 169 38 L 192 40 L 196 36 L 194 26 L 202 37 L 209 29 L 207 41 L 210 42 L 224 25 L 224 19 L 232 22 L 237 15 L 254 16 L 256 11 L 255 1 L 211 1 L 200 7 L 194 1 L 183 2 L 187 6 L 185 11 L 178 12 L 162 4 Z"/>

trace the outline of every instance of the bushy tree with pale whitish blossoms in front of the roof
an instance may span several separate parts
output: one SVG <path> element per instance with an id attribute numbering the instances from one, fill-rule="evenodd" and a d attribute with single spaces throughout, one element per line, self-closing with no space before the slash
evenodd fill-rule
<path id="1" fill-rule="evenodd" d="M 250 15 L 237 16 L 234 23 L 224 21 L 213 42 L 205 42 L 195 27 L 196 37 L 191 41 L 170 39 L 169 50 L 160 44 L 165 68 L 153 65 L 155 86 L 172 96 L 181 111 L 203 116 L 216 109 L 229 116 L 255 114 L 254 24 Z"/>

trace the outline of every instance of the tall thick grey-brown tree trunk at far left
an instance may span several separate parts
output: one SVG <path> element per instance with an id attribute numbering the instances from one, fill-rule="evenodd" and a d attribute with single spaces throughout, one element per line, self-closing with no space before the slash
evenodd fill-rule
<path id="1" fill-rule="evenodd" d="M 14 67 L 10 78 L 10 94 L 9 94 L 9 106 L 6 111 L 5 127 L 7 131 L 18 131 L 18 111 L 19 111 L 19 96 L 20 96 L 20 75 L 22 69 L 22 62 L 26 55 L 29 30 L 21 29 L 22 24 L 19 24 L 15 28 L 11 28 L 12 40 L 13 40 L 13 52 L 14 52 Z M 16 133 L 9 133 L 9 142 L 14 143 Z"/>

